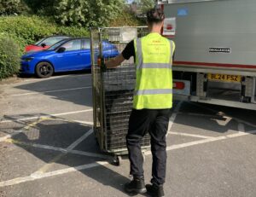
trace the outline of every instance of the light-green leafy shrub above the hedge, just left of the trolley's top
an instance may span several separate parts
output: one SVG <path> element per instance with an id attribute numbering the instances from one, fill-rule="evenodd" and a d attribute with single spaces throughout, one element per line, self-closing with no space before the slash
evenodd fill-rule
<path id="1" fill-rule="evenodd" d="M 55 19 L 68 26 L 106 26 L 124 6 L 124 0 L 61 0 L 55 4 Z"/>

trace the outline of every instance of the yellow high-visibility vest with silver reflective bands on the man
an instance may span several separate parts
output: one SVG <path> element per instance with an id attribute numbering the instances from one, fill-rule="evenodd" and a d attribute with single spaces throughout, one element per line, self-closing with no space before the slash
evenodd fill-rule
<path id="1" fill-rule="evenodd" d="M 159 33 L 134 40 L 136 54 L 135 109 L 172 108 L 172 55 L 175 43 Z"/>

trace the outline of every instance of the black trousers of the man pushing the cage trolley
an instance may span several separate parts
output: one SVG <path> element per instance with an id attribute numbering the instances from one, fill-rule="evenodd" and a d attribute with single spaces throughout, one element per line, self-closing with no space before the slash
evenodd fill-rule
<path id="1" fill-rule="evenodd" d="M 129 119 L 126 143 L 133 177 L 143 177 L 143 154 L 141 142 L 149 132 L 153 156 L 151 183 L 163 184 L 166 181 L 166 132 L 170 109 L 133 109 Z"/>

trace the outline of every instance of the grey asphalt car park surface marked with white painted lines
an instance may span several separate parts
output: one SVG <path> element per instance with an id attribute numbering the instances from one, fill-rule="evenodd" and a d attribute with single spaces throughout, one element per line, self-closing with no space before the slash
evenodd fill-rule
<path id="1" fill-rule="evenodd" d="M 129 161 L 111 164 L 93 134 L 90 73 L 2 83 L 0 107 L 1 197 L 127 196 Z M 256 112 L 175 101 L 166 196 L 255 197 L 255 134 Z"/>

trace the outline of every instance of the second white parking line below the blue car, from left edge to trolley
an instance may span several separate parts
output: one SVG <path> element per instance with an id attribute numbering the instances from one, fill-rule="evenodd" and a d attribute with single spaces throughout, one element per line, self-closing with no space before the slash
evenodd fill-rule
<path id="1" fill-rule="evenodd" d="M 50 118 L 50 117 L 55 117 L 55 116 L 64 116 L 64 115 L 70 115 L 70 114 L 75 114 L 75 113 L 86 113 L 86 112 L 91 112 L 93 109 L 84 109 L 80 111 L 74 111 L 74 112 L 68 112 L 68 113 L 54 113 L 54 114 L 49 114 L 49 115 L 42 115 L 42 116 L 33 116 L 29 118 L 22 118 L 22 119 L 11 119 L 11 120 L 3 120 L 0 121 L 0 124 L 2 123 L 11 123 L 14 121 L 24 121 L 24 120 L 31 120 L 31 119 L 43 119 L 43 118 Z"/>

